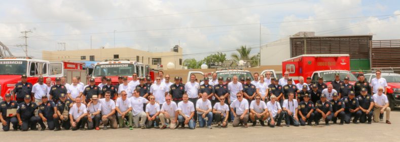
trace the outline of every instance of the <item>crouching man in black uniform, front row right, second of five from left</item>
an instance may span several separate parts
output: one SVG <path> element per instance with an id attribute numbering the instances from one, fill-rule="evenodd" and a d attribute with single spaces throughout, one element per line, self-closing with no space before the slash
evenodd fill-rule
<path id="1" fill-rule="evenodd" d="M 319 125 L 319 119 L 325 119 L 325 125 L 329 125 L 332 120 L 332 104 L 326 100 L 325 94 L 321 94 L 320 100 L 315 103 L 315 126 Z"/>

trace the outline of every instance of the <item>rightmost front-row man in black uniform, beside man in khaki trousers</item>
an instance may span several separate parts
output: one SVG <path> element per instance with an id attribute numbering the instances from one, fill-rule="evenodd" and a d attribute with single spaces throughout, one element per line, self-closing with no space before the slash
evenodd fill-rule
<path id="1" fill-rule="evenodd" d="M 361 95 L 357 96 L 357 99 L 361 110 L 360 123 L 366 123 L 368 118 L 368 124 L 371 124 L 374 99 L 370 94 L 368 94 L 368 90 L 366 88 L 361 88 Z"/>

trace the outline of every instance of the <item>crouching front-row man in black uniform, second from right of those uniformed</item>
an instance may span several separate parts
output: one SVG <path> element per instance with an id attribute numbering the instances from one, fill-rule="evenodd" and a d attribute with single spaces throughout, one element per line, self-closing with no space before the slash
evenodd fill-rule
<path id="1" fill-rule="evenodd" d="M 349 96 L 342 98 L 346 108 L 344 109 L 344 122 L 350 123 L 350 119 L 354 116 L 353 123 L 358 124 L 357 120 L 361 116 L 358 100 L 354 97 L 354 92 L 350 91 Z"/>

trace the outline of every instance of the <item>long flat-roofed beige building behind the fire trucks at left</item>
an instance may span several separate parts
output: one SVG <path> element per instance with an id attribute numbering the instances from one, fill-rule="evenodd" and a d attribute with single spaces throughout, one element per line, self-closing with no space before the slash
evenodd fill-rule
<path id="1" fill-rule="evenodd" d="M 110 59 L 129 59 L 144 64 L 151 68 L 168 69 L 170 64 L 173 69 L 180 69 L 183 64 L 183 49 L 175 46 L 169 52 L 147 52 L 132 48 L 105 48 L 84 49 L 67 51 L 42 51 L 42 58 L 49 61 L 104 61 Z"/>

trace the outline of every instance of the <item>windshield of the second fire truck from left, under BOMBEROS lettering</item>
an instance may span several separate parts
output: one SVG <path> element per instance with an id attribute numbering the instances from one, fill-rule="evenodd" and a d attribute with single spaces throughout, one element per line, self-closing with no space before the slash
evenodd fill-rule
<path id="1" fill-rule="evenodd" d="M 101 76 L 132 76 L 133 64 L 98 64 L 94 67 L 93 77 Z"/>

